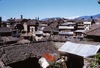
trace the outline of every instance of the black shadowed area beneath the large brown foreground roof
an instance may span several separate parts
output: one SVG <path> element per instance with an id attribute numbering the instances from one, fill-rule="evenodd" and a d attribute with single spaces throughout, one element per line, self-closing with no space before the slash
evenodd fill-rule
<path id="1" fill-rule="evenodd" d="M 12 68 L 41 68 L 37 58 L 28 58 L 24 61 L 11 63 L 8 66 Z"/>

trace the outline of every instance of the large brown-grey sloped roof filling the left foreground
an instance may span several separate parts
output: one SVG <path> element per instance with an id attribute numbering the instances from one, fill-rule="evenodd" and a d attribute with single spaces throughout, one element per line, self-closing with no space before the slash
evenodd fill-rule
<path id="1" fill-rule="evenodd" d="M 10 63 L 18 62 L 25 60 L 29 57 L 43 56 L 44 53 L 57 53 L 58 51 L 55 48 L 53 42 L 39 42 L 32 43 L 29 45 L 13 45 L 7 46 L 0 49 L 3 54 L 1 59 L 7 65 Z"/>

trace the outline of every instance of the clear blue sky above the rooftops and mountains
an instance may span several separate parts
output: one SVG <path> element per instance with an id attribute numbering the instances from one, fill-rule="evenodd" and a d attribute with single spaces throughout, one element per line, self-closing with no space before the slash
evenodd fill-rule
<path id="1" fill-rule="evenodd" d="M 35 17 L 73 18 L 100 14 L 97 0 L 0 0 L 0 16 L 8 18 L 34 19 Z"/>

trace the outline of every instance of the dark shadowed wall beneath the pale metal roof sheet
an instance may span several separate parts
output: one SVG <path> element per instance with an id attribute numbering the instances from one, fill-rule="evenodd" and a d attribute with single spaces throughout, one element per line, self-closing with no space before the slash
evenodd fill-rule
<path id="1" fill-rule="evenodd" d="M 77 55 L 68 54 L 66 65 L 67 68 L 83 68 L 84 58 Z"/>

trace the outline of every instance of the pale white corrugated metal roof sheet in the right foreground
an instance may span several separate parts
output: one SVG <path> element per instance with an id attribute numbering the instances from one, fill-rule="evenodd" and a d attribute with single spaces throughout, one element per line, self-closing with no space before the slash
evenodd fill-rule
<path id="1" fill-rule="evenodd" d="M 58 51 L 67 52 L 82 57 L 89 57 L 95 55 L 100 49 L 100 45 L 78 44 L 73 42 L 66 42 Z"/>

